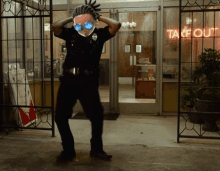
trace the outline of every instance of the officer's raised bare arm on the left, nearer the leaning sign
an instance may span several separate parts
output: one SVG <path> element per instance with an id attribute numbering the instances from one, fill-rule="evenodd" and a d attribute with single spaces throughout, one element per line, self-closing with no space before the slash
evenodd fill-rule
<path id="1" fill-rule="evenodd" d="M 51 30 L 57 35 L 59 36 L 62 32 L 62 28 L 63 26 L 65 26 L 67 23 L 70 23 L 73 21 L 73 17 L 69 17 L 60 21 L 57 21 L 53 24 L 51 24 Z"/>

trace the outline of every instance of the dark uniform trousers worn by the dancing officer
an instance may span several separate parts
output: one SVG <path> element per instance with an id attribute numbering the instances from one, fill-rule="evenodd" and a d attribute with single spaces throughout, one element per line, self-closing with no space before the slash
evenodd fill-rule
<path id="1" fill-rule="evenodd" d="M 74 138 L 68 119 L 72 116 L 73 107 L 79 99 L 84 113 L 91 121 L 91 151 L 103 151 L 103 107 L 100 102 L 97 76 L 64 75 L 60 78 L 55 122 L 61 135 L 64 151 L 75 151 Z"/>

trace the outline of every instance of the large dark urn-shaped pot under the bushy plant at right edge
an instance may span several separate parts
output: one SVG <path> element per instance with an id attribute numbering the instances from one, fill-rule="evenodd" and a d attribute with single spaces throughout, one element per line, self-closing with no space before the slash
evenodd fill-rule
<path id="1" fill-rule="evenodd" d="M 209 101 L 196 99 L 196 109 L 198 112 L 220 112 L 220 101 Z M 219 128 L 216 121 L 220 118 L 219 114 L 202 114 L 205 119 L 205 124 L 202 127 L 203 131 L 216 132 Z"/>

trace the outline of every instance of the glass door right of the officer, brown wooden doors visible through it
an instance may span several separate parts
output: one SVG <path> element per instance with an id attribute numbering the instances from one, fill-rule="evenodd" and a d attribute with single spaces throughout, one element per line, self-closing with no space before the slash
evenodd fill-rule
<path id="1" fill-rule="evenodd" d="M 158 9 L 120 9 L 118 101 L 120 113 L 158 113 L 160 77 Z"/>

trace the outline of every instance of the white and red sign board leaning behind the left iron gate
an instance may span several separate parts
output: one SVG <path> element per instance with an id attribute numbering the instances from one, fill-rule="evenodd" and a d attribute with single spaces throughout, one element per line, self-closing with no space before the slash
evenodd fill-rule
<path id="1" fill-rule="evenodd" d="M 9 71 L 9 87 L 13 105 L 34 106 L 25 69 Z M 34 108 L 18 107 L 15 112 L 15 116 L 19 115 L 15 117 L 19 126 L 27 127 L 37 121 Z"/>

